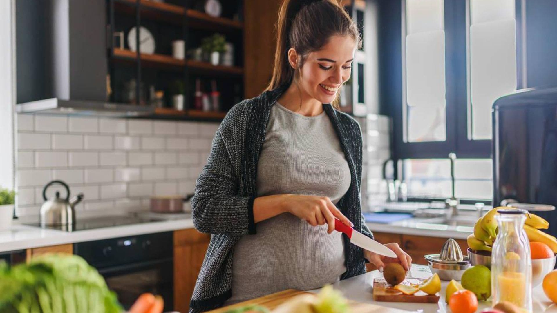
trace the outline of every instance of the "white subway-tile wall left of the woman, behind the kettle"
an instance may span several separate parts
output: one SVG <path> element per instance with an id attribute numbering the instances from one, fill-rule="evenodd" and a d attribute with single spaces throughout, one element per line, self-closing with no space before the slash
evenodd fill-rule
<path id="1" fill-rule="evenodd" d="M 38 214 L 43 186 L 53 179 L 68 183 L 72 195 L 85 194 L 78 212 L 148 208 L 151 195 L 193 193 L 218 128 L 218 123 L 65 115 L 18 114 L 17 119 L 20 216 Z"/>

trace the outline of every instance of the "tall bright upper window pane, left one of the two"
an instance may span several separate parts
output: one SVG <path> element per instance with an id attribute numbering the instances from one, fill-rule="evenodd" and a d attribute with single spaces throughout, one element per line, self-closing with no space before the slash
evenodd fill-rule
<path id="1" fill-rule="evenodd" d="M 404 141 L 446 140 L 443 6 L 443 0 L 406 1 Z"/>

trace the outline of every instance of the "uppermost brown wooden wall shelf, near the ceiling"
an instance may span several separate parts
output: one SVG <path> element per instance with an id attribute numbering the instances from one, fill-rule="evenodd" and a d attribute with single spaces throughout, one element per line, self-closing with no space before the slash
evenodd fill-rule
<path id="1" fill-rule="evenodd" d="M 121 5 L 120 5 L 121 4 Z M 136 0 L 117 0 L 115 1 L 115 9 L 120 12 L 134 14 Z M 236 31 L 243 29 L 243 23 L 233 21 L 224 17 L 213 17 L 203 12 L 193 9 L 185 9 L 182 6 L 169 4 L 164 2 L 155 2 L 152 0 L 139 1 L 141 16 L 159 21 L 181 24 L 184 21 L 183 16 L 187 16 L 188 26 L 193 28 L 202 28 L 216 31 Z"/>

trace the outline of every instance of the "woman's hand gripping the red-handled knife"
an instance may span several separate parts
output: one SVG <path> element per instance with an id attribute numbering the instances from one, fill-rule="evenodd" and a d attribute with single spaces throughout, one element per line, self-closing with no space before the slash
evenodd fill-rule
<path id="1" fill-rule="evenodd" d="M 328 197 L 285 194 L 282 206 L 286 212 L 303 219 L 311 226 L 328 224 L 329 234 L 335 230 L 335 217 L 347 226 L 354 226 Z"/>

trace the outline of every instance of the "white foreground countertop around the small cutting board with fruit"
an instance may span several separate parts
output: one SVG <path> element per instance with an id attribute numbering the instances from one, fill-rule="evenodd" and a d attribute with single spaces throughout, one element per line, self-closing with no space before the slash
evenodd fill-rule
<path id="1" fill-rule="evenodd" d="M 410 275 L 416 278 L 426 278 L 431 276 L 431 272 L 429 272 L 429 268 L 427 266 L 413 265 Z M 395 309 L 407 310 L 410 312 L 447 313 L 451 311 L 448 308 L 448 305 L 445 304 L 445 289 L 448 285 L 448 281 L 441 281 L 441 292 L 439 292 L 441 296 L 439 297 L 439 302 L 437 304 L 373 301 L 373 278 L 382 276 L 383 274 L 379 273 L 379 271 L 372 271 L 347 280 L 335 282 L 333 287 L 343 292 L 345 297 L 354 301 L 373 303 L 375 305 L 393 307 Z M 310 290 L 310 292 L 319 292 L 319 289 Z M 480 312 L 487 307 L 491 307 L 491 299 L 488 299 L 487 301 L 479 301 L 477 312 Z M 532 294 L 532 309 L 535 313 L 557 312 L 557 305 L 554 305 L 553 302 L 548 299 L 548 297 L 544 294 L 541 285 L 534 288 L 534 292 Z"/>

